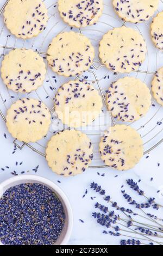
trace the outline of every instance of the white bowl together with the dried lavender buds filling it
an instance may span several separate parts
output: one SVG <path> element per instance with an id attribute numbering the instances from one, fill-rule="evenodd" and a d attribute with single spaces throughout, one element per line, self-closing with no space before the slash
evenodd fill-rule
<path id="1" fill-rule="evenodd" d="M 66 245 L 73 214 L 62 190 L 41 176 L 0 185 L 0 245 Z"/>

